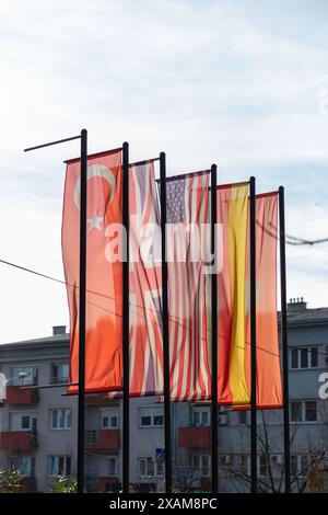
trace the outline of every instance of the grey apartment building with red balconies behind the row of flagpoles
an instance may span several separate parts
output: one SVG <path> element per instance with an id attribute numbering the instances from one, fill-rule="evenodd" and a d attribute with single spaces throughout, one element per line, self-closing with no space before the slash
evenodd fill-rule
<path id="1" fill-rule="evenodd" d="M 290 419 L 294 490 L 308 464 L 328 458 L 328 401 L 319 399 L 328 368 L 328 308 L 288 307 Z M 48 491 L 51 478 L 77 470 L 77 397 L 66 394 L 69 335 L 0 345 L 7 399 L 0 409 L 0 468 L 15 467 L 24 491 Z M 326 416 L 327 415 L 327 416 Z M 249 490 L 249 413 L 219 408 L 219 487 Z M 130 402 L 130 482 L 138 491 L 164 491 L 163 405 L 157 398 Z M 121 401 L 86 396 L 85 474 L 90 491 L 117 491 L 121 478 Z M 283 488 L 280 410 L 258 413 L 260 490 Z M 208 403 L 172 404 L 173 476 L 177 489 L 211 488 L 211 410 Z"/>

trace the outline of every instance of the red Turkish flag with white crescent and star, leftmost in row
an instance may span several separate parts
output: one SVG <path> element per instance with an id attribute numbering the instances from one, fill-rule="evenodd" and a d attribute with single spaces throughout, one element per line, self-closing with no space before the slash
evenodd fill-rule
<path id="1" fill-rule="evenodd" d="M 122 388 L 122 151 L 87 159 L 85 391 Z M 79 382 L 80 159 L 67 162 L 62 260 L 70 311 L 70 384 Z M 115 224 L 117 224 L 117 229 Z M 115 244 L 117 241 L 117 245 Z M 77 393 L 71 386 L 69 393 Z"/>

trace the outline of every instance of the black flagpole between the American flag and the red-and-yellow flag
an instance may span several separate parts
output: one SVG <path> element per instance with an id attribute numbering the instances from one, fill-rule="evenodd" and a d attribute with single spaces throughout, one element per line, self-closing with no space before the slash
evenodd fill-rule
<path id="1" fill-rule="evenodd" d="M 216 164 L 211 167 L 211 253 L 213 268 L 216 266 L 215 229 L 216 229 Z M 218 493 L 218 274 L 212 270 L 211 307 L 212 307 L 212 493 Z"/>

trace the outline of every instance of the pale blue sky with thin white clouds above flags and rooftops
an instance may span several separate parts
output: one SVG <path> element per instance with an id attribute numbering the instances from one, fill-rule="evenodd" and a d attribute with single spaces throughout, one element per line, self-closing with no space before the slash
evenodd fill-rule
<path id="1" fill-rule="evenodd" d="M 167 173 L 285 186 L 286 231 L 328 237 L 326 0 L 3 0 L 0 259 L 62 278 L 63 160 L 129 141 Z M 288 247 L 288 296 L 328 306 L 328 243 Z M 0 343 L 69 324 L 63 285 L 0 263 Z"/>

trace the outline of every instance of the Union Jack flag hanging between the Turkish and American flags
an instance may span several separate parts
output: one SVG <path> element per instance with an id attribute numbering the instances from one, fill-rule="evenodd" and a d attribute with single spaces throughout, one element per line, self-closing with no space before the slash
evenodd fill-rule
<path id="1" fill-rule="evenodd" d="M 161 234 L 149 234 L 142 253 L 140 232 L 160 227 L 154 162 L 130 168 L 130 396 L 163 391 Z M 144 255 L 149 254 L 149 255 Z"/>

